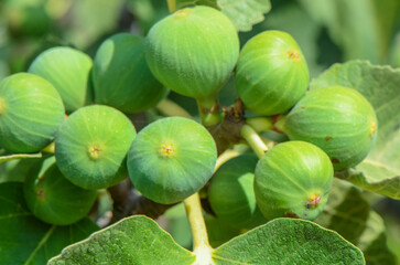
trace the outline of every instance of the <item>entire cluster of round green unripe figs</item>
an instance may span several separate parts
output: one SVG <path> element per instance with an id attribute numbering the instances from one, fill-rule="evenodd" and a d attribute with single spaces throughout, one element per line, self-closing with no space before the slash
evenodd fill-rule
<path id="1" fill-rule="evenodd" d="M 215 105 L 231 76 L 245 109 L 273 116 L 275 130 L 289 141 L 260 158 L 241 153 L 215 171 L 220 139 L 196 120 L 160 118 L 137 131 L 132 114 L 153 108 L 170 89 L 195 98 L 202 110 Z M 97 190 L 127 178 L 161 204 L 205 188 L 208 211 L 239 230 L 280 216 L 313 220 L 327 201 L 334 171 L 368 155 L 378 125 L 357 91 L 307 92 L 309 80 L 290 34 L 266 31 L 240 50 L 225 14 L 185 8 L 160 20 L 145 38 L 108 38 L 94 59 L 52 47 L 28 73 L 2 80 L 0 146 L 31 153 L 54 145 L 54 153 L 32 167 L 24 188 L 33 214 L 53 224 L 80 220 Z"/>

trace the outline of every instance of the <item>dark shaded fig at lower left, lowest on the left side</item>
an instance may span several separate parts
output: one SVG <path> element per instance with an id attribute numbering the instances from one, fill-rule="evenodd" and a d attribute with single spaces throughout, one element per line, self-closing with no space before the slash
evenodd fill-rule
<path id="1" fill-rule="evenodd" d="M 86 216 L 97 191 L 71 183 L 60 172 L 54 157 L 33 166 L 24 183 L 28 208 L 40 220 L 67 225 Z"/>

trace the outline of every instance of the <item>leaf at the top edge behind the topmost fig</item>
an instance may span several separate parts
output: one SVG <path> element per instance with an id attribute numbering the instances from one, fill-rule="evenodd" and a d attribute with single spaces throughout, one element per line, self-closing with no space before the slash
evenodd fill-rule
<path id="1" fill-rule="evenodd" d="M 263 21 L 264 13 L 271 10 L 270 0 L 177 0 L 176 9 L 192 4 L 218 8 L 238 31 L 250 31 L 252 25 Z"/>

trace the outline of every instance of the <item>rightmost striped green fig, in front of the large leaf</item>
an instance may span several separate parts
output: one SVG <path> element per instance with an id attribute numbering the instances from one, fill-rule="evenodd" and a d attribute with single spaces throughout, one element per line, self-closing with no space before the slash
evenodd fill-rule
<path id="1" fill-rule="evenodd" d="M 357 91 L 329 86 L 307 93 L 283 120 L 291 140 L 312 142 L 331 158 L 336 171 L 358 165 L 378 132 L 372 106 Z"/>

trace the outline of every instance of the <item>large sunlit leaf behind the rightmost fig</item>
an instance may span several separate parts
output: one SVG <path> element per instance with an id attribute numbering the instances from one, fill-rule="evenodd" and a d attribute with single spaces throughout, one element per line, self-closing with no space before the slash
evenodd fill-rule
<path id="1" fill-rule="evenodd" d="M 337 173 L 354 184 L 400 199 L 400 70 L 350 61 L 335 64 L 311 83 L 311 89 L 342 85 L 357 89 L 378 116 L 378 137 L 355 169 Z"/>

